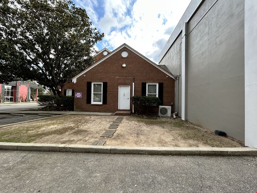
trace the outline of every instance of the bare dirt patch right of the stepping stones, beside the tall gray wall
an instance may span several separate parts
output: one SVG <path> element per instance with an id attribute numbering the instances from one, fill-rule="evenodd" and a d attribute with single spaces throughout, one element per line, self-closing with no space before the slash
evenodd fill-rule
<path id="1" fill-rule="evenodd" d="M 107 145 L 152 147 L 242 147 L 243 142 L 179 118 L 125 116 Z"/>

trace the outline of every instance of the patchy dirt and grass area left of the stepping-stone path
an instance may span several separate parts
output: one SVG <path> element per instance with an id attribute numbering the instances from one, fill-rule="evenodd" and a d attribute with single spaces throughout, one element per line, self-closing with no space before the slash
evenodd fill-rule
<path id="1" fill-rule="evenodd" d="M 117 116 L 65 115 L 0 128 L 0 142 L 90 144 Z"/>

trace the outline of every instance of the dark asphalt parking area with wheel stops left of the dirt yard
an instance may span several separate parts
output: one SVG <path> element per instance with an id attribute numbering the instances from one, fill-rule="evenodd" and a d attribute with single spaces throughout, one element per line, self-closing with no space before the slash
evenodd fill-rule
<path id="1" fill-rule="evenodd" d="M 0 114 L 0 126 L 19 123 L 23 121 L 35 120 L 40 118 L 45 118 L 45 117 L 39 116 L 39 115 L 25 115 L 24 117 L 22 117 L 22 116 L 13 116 L 10 114 Z"/>

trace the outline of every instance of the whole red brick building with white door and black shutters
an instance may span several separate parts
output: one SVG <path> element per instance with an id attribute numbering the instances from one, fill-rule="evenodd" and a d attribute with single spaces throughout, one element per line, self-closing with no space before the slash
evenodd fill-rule
<path id="1" fill-rule="evenodd" d="M 165 65 L 155 64 L 126 44 L 113 51 L 105 48 L 95 57 L 92 66 L 64 87 L 64 95 L 75 95 L 75 111 L 132 111 L 133 95 L 156 96 L 164 106 L 174 102 L 175 77 Z"/>

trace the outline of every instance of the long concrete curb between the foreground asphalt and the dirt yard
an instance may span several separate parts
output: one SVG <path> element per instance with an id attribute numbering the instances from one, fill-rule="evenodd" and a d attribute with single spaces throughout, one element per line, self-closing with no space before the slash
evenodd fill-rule
<path id="1" fill-rule="evenodd" d="M 125 147 L 0 142 L 0 150 L 171 156 L 257 156 L 257 148 Z"/>

